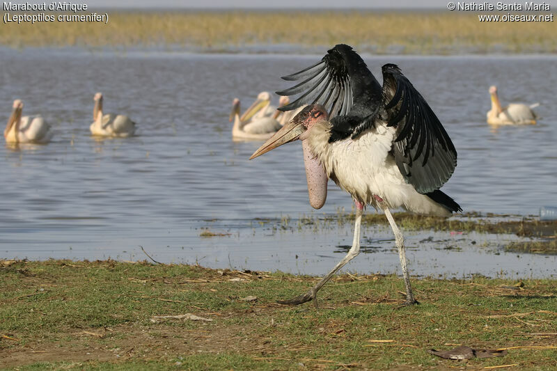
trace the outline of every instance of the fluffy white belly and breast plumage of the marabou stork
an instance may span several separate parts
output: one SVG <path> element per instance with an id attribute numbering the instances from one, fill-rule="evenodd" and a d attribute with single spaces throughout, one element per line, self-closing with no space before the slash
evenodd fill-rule
<path id="1" fill-rule="evenodd" d="M 373 196 L 381 197 L 391 208 L 402 207 L 419 214 L 450 215 L 444 207 L 419 194 L 408 184 L 389 153 L 395 128 L 386 124 L 370 129 L 357 139 L 328 143 L 325 123 L 315 124 L 308 136 L 314 155 L 322 162 L 327 175 L 352 197 L 377 208 Z"/>

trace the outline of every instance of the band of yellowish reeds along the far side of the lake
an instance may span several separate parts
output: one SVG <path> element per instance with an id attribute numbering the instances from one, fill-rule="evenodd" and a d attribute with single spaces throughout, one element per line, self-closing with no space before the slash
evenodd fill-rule
<path id="1" fill-rule="evenodd" d="M 201 52 L 286 45 L 304 52 L 344 42 L 375 54 L 555 53 L 557 38 L 551 35 L 556 34 L 557 22 L 483 23 L 469 12 L 113 11 L 108 24 L 3 25 L 0 45 Z"/>

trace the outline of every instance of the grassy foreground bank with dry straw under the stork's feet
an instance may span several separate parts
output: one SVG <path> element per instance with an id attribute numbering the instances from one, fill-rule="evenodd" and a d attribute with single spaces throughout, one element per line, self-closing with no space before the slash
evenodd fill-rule
<path id="1" fill-rule="evenodd" d="M 412 278 L 421 303 L 400 307 L 402 278 L 342 274 L 315 308 L 276 303 L 316 280 L 280 272 L 50 260 L 0 264 L 0 278 L 8 370 L 439 370 L 460 363 L 427 350 L 457 345 L 508 349 L 466 367 L 557 362 L 555 279 Z"/>

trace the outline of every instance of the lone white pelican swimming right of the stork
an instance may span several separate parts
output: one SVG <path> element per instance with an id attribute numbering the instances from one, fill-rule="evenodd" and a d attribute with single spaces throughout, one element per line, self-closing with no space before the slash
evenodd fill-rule
<path id="1" fill-rule="evenodd" d="M 539 103 L 527 106 L 521 103 L 511 103 L 505 108 L 501 108 L 497 87 L 489 88 L 489 95 L 492 97 L 492 109 L 487 112 L 487 123 L 491 125 L 535 125 L 538 116 L 532 111 L 539 106 Z"/>

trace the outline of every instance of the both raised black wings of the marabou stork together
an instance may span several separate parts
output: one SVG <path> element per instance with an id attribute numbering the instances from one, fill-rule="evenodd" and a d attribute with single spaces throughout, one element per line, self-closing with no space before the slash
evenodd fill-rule
<path id="1" fill-rule="evenodd" d="M 400 69 L 383 66 L 383 88 L 348 45 L 330 49 L 315 65 L 283 77 L 300 81 L 278 95 L 299 95 L 281 111 L 321 104 L 329 112 L 329 143 L 357 136 L 388 121 L 397 128 L 393 153 L 400 173 L 416 191 L 439 189 L 453 174 L 457 152 L 430 106 Z"/>

